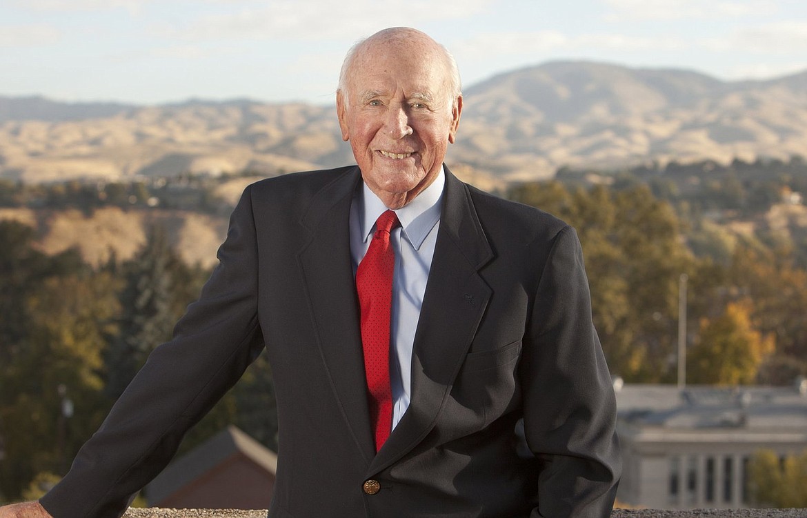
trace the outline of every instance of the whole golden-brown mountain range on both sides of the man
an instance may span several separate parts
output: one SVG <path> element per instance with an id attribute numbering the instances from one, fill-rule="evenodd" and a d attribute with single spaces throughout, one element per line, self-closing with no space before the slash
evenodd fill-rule
<path id="1" fill-rule="evenodd" d="M 807 150 L 807 71 L 720 81 L 678 69 L 552 62 L 466 86 L 452 170 L 483 188 L 563 166 L 787 159 Z M 0 97 L 0 178 L 272 175 L 353 162 L 332 106 L 137 106 Z"/>

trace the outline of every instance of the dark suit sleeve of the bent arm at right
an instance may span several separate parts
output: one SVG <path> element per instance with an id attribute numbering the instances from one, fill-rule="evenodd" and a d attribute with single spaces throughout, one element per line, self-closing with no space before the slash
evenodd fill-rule
<path id="1" fill-rule="evenodd" d="M 616 400 L 571 227 L 554 237 L 526 340 L 525 438 L 542 466 L 532 516 L 610 516 L 621 474 Z"/>

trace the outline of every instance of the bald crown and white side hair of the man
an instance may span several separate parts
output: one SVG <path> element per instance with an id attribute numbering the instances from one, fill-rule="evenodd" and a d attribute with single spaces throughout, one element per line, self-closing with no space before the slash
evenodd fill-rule
<path id="1" fill-rule="evenodd" d="M 448 49 L 438 44 L 425 32 L 411 27 L 391 27 L 378 31 L 364 40 L 359 40 L 348 51 L 345 61 L 342 62 L 337 90 L 345 98 L 345 102 L 348 101 L 350 77 L 355 73 L 354 65 L 365 58 L 369 51 L 377 51 L 382 48 L 387 48 L 389 52 L 424 53 L 437 56 L 439 61 L 445 65 L 445 88 L 452 100 L 462 94 L 457 62 L 454 61 L 454 56 Z"/>

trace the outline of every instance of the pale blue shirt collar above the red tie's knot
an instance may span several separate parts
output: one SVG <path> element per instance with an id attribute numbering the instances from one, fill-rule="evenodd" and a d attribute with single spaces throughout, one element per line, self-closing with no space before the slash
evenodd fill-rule
<path id="1" fill-rule="evenodd" d="M 445 187 L 445 173 L 441 167 L 437 178 L 423 192 L 404 207 L 395 210 L 401 222 L 403 236 L 412 244 L 414 249 L 420 249 L 420 244 L 429 235 L 434 225 L 440 221 L 441 200 Z M 362 241 L 366 242 L 373 230 L 375 220 L 387 210 L 387 206 L 378 199 L 366 183 L 362 183 L 360 198 L 360 218 Z M 363 214 L 361 214 L 363 212 Z"/>

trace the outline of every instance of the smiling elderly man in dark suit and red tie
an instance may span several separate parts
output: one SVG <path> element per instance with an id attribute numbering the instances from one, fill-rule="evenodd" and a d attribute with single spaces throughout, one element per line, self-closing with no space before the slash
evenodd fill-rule
<path id="1" fill-rule="evenodd" d="M 449 172 L 461 113 L 429 36 L 357 44 L 337 115 L 358 167 L 249 186 L 174 339 L 62 482 L 0 517 L 120 516 L 264 347 L 272 518 L 608 516 L 615 403 L 579 241 Z"/>

